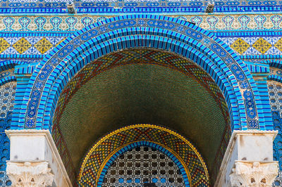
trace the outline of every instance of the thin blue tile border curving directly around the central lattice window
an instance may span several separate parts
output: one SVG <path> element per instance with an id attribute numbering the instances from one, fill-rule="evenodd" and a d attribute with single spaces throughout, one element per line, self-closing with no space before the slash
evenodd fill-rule
<path id="1" fill-rule="evenodd" d="M 109 169 L 109 167 L 111 167 L 111 164 L 114 162 L 114 160 L 116 160 L 123 153 L 129 150 L 132 150 L 133 148 L 140 147 L 140 146 L 147 146 L 150 148 L 155 148 L 159 150 L 161 153 L 164 153 L 165 155 L 170 157 L 171 160 L 177 165 L 178 169 L 180 170 L 180 174 L 183 176 L 185 186 L 189 186 L 189 181 L 191 181 L 191 178 L 190 178 L 190 175 L 187 169 L 183 167 L 183 164 L 184 164 L 183 160 L 181 160 L 180 157 L 178 158 L 176 155 L 173 155 L 173 153 L 171 153 L 172 151 L 170 151 L 169 148 L 166 148 L 164 145 L 161 146 L 157 143 L 153 143 L 149 141 L 137 141 L 134 143 L 130 143 L 128 146 L 125 146 L 121 148 L 120 150 L 117 150 L 116 153 L 114 153 L 114 155 L 112 155 L 109 158 L 109 160 L 106 162 L 106 165 L 104 165 L 104 168 L 102 169 L 101 174 L 99 174 L 97 186 L 102 186 L 104 176 L 106 175 L 107 170 Z"/>

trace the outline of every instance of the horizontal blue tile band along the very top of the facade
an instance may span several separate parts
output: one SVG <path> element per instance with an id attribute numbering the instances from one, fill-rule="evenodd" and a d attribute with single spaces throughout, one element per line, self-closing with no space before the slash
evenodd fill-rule
<path id="1" fill-rule="evenodd" d="M 68 13 L 72 2 L 76 13 L 204 13 L 210 1 L 177 0 L 1 0 L 2 13 Z M 214 0 L 214 12 L 281 11 L 281 1 Z M 231 20 L 228 20 L 231 21 Z M 44 22 L 44 21 L 43 21 Z"/>

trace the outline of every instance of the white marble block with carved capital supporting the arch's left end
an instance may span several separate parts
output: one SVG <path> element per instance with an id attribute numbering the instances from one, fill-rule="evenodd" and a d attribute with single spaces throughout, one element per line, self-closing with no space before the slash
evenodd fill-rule
<path id="1" fill-rule="evenodd" d="M 11 141 L 6 172 L 12 185 L 50 186 L 54 181 L 53 186 L 72 186 L 48 130 L 8 130 L 6 134 Z"/>

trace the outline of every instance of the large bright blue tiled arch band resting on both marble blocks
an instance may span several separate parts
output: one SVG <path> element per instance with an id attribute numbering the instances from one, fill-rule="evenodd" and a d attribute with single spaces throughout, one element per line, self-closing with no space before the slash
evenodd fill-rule
<path id="1" fill-rule="evenodd" d="M 24 98 L 30 99 L 13 121 L 18 121 L 18 129 L 51 129 L 56 101 L 76 72 L 111 51 L 142 46 L 166 49 L 202 66 L 226 97 L 233 129 L 265 129 L 257 110 L 263 113 L 259 92 L 242 60 L 200 27 L 157 15 L 110 18 L 63 41 L 37 65 L 25 91 Z"/>

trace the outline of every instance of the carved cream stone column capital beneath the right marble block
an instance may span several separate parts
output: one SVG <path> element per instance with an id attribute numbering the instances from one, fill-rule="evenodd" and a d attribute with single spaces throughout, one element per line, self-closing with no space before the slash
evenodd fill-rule
<path id="1" fill-rule="evenodd" d="M 232 169 L 231 186 L 272 186 L 278 174 L 278 162 L 235 161 Z"/>

